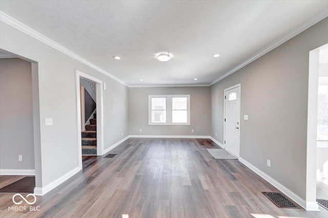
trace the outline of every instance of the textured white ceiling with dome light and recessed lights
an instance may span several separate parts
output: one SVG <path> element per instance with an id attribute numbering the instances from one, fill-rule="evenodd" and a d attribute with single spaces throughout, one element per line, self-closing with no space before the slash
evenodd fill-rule
<path id="1" fill-rule="evenodd" d="M 324 9 L 328 1 L 0 3 L 4 13 L 129 85 L 209 84 Z M 160 52 L 174 58 L 157 61 Z"/>

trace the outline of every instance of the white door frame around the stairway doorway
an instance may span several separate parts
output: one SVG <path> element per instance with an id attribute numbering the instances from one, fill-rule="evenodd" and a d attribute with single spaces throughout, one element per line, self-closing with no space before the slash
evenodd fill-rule
<path id="1" fill-rule="evenodd" d="M 104 82 L 88 74 L 85 74 L 84 72 L 75 70 L 78 162 L 79 167 L 82 169 L 80 78 L 87 79 L 96 83 L 97 156 L 104 154 Z"/>

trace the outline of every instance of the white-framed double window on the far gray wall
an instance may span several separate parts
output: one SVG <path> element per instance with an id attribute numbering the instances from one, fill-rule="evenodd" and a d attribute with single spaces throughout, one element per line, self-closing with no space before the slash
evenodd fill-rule
<path id="1" fill-rule="evenodd" d="M 149 125 L 190 125 L 190 94 L 149 95 Z"/>

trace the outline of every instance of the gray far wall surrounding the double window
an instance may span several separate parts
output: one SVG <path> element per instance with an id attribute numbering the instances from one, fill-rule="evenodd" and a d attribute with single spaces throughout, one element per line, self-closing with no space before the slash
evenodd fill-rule
<path id="1" fill-rule="evenodd" d="M 152 94 L 190 94 L 190 126 L 149 126 L 148 95 Z M 210 135 L 210 87 L 129 88 L 129 120 L 130 135 Z"/>

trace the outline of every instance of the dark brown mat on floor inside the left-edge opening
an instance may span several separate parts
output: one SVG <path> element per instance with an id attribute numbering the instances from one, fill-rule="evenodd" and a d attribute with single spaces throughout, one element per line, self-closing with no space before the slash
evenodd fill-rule
<path id="1" fill-rule="evenodd" d="M 35 177 L 27 176 L 0 189 L 0 193 L 34 193 Z"/>

